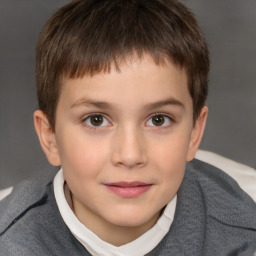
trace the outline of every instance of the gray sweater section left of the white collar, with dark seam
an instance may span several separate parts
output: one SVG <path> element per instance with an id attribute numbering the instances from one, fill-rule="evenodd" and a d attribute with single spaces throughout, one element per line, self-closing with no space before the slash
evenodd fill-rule
<path id="1" fill-rule="evenodd" d="M 55 175 L 21 182 L 0 201 L 0 256 L 89 255 L 62 220 Z"/>

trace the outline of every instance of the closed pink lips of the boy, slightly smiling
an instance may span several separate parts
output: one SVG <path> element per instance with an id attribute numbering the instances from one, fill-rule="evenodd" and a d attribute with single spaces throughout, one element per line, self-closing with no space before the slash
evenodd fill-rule
<path id="1" fill-rule="evenodd" d="M 152 184 L 147 184 L 139 181 L 134 181 L 134 182 L 121 181 L 121 182 L 108 183 L 104 185 L 111 192 L 124 198 L 138 197 L 141 194 L 147 192 L 152 186 Z"/>

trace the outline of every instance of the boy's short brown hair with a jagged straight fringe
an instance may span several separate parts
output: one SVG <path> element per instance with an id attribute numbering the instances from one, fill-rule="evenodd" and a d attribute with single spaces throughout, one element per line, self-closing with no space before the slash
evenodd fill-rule
<path id="1" fill-rule="evenodd" d="M 37 45 L 39 108 L 54 129 L 62 78 L 109 72 L 150 54 L 184 67 L 194 121 L 208 92 L 209 53 L 193 14 L 176 0 L 76 0 L 46 23 Z"/>

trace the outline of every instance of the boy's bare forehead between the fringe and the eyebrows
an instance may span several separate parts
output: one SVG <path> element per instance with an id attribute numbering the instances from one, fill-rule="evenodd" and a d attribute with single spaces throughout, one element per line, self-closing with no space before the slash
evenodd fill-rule
<path id="1" fill-rule="evenodd" d="M 175 98 L 190 102 L 187 75 L 183 68 L 170 61 L 156 62 L 149 55 L 130 57 L 109 72 L 76 79 L 63 79 L 60 101 L 73 105 L 83 98 L 113 104 L 148 104 Z"/>

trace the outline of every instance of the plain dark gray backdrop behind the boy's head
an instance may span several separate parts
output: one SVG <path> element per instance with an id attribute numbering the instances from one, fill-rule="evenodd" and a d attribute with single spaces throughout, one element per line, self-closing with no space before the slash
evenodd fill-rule
<path id="1" fill-rule="evenodd" d="M 33 128 L 34 50 L 45 21 L 67 2 L 0 1 L 0 189 L 53 169 Z M 196 14 L 212 60 L 201 148 L 256 167 L 256 1 L 183 2 Z"/>

